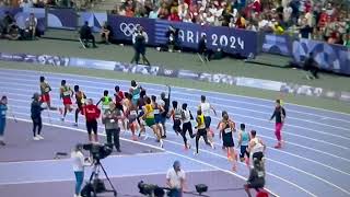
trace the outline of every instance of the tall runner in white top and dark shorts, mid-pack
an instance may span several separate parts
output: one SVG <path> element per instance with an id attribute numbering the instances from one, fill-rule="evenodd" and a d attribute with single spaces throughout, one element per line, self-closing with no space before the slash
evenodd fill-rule
<path id="1" fill-rule="evenodd" d="M 200 105 L 198 108 L 202 112 L 202 115 L 205 116 L 205 124 L 206 124 L 208 140 L 211 142 L 211 144 L 214 144 L 213 143 L 214 132 L 210 129 L 210 124 L 211 124 L 210 111 L 212 111 L 215 116 L 217 116 L 217 111 L 210 103 L 206 101 L 205 95 L 200 96 Z M 214 147 L 212 148 L 214 149 Z"/>

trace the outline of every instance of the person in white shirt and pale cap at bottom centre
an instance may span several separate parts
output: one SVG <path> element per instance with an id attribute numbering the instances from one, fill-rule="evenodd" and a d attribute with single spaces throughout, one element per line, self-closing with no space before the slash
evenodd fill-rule
<path id="1" fill-rule="evenodd" d="M 180 169 L 179 161 L 175 161 L 173 167 L 166 173 L 166 184 L 171 188 L 168 196 L 182 197 L 186 188 L 185 181 L 185 171 Z"/>

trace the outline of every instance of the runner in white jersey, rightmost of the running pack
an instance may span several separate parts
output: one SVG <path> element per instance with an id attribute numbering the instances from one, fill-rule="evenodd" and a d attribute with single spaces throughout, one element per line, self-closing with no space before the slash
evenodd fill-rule
<path id="1" fill-rule="evenodd" d="M 248 144 L 249 152 L 249 161 L 247 165 L 253 167 L 253 161 L 259 160 L 261 165 L 264 166 L 264 151 L 266 150 L 266 146 L 262 140 L 256 137 L 256 130 L 250 131 L 250 141 Z"/>

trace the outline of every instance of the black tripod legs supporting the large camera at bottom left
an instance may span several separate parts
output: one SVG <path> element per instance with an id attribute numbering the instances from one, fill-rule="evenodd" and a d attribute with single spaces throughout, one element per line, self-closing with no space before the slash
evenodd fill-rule
<path id="1" fill-rule="evenodd" d="M 102 179 L 98 178 L 100 169 L 102 169 L 103 173 L 105 174 L 112 189 L 106 189 L 105 184 Z M 93 197 L 97 197 L 97 193 L 113 193 L 114 196 L 117 196 L 117 190 L 114 188 L 105 169 L 103 167 L 100 160 L 96 160 L 93 171 L 91 173 L 89 183 L 82 189 L 83 197 L 91 197 L 91 193 L 93 193 Z"/>

